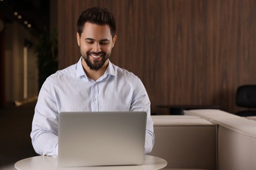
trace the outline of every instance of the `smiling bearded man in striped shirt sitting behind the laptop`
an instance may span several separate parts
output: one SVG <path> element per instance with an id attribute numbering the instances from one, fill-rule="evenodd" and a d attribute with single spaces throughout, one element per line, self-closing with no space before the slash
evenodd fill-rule
<path id="1" fill-rule="evenodd" d="M 31 133 L 37 154 L 58 156 L 58 113 L 64 111 L 146 111 L 145 154 L 151 152 L 150 100 L 137 76 L 110 62 L 116 39 L 116 22 L 108 10 L 94 7 L 81 13 L 81 58 L 49 76 L 39 92 Z"/>

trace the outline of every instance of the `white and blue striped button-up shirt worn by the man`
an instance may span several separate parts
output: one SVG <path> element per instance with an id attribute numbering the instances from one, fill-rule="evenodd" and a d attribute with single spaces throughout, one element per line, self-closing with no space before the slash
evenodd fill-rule
<path id="1" fill-rule="evenodd" d="M 154 145 L 150 99 L 138 76 L 109 61 L 98 80 L 87 77 L 79 61 L 45 80 L 32 122 L 32 144 L 41 155 L 58 156 L 58 113 L 64 111 L 146 111 L 145 154 Z"/>

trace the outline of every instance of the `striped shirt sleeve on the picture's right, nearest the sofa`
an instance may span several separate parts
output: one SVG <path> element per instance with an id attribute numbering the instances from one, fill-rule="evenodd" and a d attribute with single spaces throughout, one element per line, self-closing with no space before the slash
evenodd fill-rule
<path id="1" fill-rule="evenodd" d="M 145 111 L 147 113 L 144 153 L 148 154 L 152 151 L 154 146 L 154 126 L 150 115 L 150 99 L 146 89 L 144 88 L 144 85 L 139 78 L 137 79 L 135 92 L 133 93 L 131 111 Z"/>

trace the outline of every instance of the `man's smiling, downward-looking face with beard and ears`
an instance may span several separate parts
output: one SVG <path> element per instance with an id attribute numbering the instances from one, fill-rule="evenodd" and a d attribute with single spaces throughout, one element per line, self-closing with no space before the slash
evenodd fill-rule
<path id="1" fill-rule="evenodd" d="M 81 37 L 77 33 L 77 44 L 81 56 L 91 70 L 97 71 L 110 57 L 116 35 L 112 38 L 108 25 L 97 25 L 86 22 Z"/>

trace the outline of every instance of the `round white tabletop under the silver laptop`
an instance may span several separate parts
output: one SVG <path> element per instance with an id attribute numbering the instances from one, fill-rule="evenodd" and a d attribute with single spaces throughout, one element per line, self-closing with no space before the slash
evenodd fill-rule
<path id="1" fill-rule="evenodd" d="M 162 158 L 146 155 L 143 165 L 58 167 L 58 158 L 54 158 L 52 156 L 34 156 L 17 161 L 14 166 L 18 170 L 154 170 L 162 169 L 166 165 L 167 161 Z"/>

